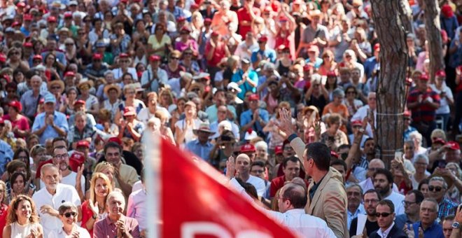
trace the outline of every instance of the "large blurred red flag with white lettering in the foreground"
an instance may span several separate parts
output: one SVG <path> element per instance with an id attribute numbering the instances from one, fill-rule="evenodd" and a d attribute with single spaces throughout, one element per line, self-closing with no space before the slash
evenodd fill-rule
<path id="1" fill-rule="evenodd" d="M 160 143 L 161 237 L 295 237 L 225 184 L 203 160 Z"/>

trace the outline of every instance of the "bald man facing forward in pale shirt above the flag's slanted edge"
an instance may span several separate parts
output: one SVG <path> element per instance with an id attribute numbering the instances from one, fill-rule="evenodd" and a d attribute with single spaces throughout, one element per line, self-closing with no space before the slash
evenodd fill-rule
<path id="1" fill-rule="evenodd" d="M 237 177 L 246 183 L 250 183 L 257 190 L 258 197 L 265 193 L 265 181 L 250 174 L 251 160 L 246 154 L 237 155 L 236 170 Z"/>

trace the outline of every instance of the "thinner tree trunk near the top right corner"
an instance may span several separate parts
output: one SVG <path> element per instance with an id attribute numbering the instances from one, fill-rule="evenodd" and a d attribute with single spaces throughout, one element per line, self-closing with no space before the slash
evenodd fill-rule
<path id="1" fill-rule="evenodd" d="M 437 0 L 423 0 L 423 18 L 428 42 L 428 54 L 430 65 L 428 66 L 428 78 L 435 82 L 435 72 L 444 69 L 444 57 L 442 52 L 442 39 L 440 27 L 440 6 Z"/>

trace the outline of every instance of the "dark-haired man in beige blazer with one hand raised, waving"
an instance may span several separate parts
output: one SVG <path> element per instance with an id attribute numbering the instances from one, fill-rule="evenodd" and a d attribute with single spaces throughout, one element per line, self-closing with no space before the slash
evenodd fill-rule
<path id="1" fill-rule="evenodd" d="M 330 149 L 320 142 L 305 146 L 293 130 L 290 111 L 283 109 L 279 116 L 279 129 L 286 133 L 290 146 L 302 160 L 305 172 L 313 179 L 308 187 L 305 211 L 323 219 L 336 237 L 349 237 L 346 191 L 342 175 L 330 167 Z"/>

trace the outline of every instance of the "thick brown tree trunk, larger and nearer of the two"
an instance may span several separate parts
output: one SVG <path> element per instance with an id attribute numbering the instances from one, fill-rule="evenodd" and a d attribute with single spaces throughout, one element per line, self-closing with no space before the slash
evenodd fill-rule
<path id="1" fill-rule="evenodd" d="M 381 160 L 386 167 L 402 150 L 406 102 L 405 78 L 407 73 L 406 25 L 411 22 L 402 12 L 402 1 L 371 0 L 372 19 L 380 43 L 380 71 L 377 87 L 376 142 Z"/>

